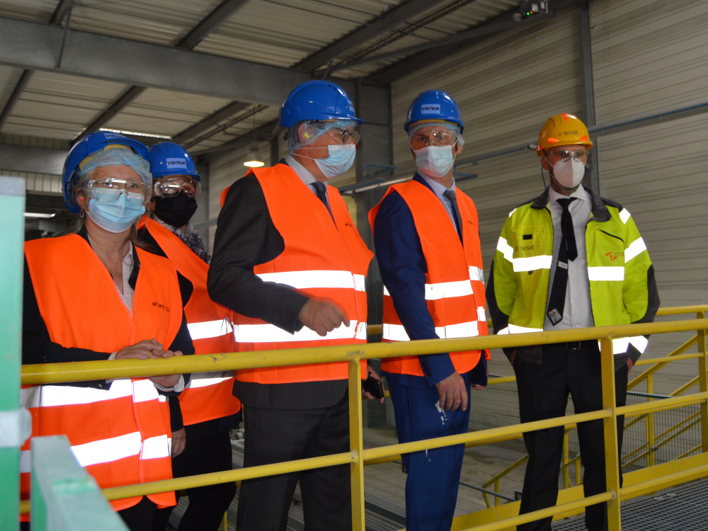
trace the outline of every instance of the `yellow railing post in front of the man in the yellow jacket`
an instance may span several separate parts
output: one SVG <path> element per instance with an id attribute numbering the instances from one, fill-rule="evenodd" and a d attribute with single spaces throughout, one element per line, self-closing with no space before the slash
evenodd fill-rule
<path id="1" fill-rule="evenodd" d="M 603 418 L 605 433 L 605 478 L 607 491 L 612 498 L 607 501 L 607 525 L 609 531 L 622 530 L 619 515 L 619 450 L 617 448 L 617 401 L 615 397 L 615 356 L 612 340 L 600 341 L 601 374 L 603 377 L 603 409 L 612 415 Z"/>

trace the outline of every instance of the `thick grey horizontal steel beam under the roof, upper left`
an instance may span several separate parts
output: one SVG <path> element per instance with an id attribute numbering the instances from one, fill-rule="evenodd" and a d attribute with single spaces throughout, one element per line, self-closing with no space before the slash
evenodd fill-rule
<path id="1" fill-rule="evenodd" d="M 0 17 L 0 64 L 13 67 L 263 105 L 280 105 L 293 86 L 310 79 L 294 69 L 79 30 L 69 30 L 57 68 L 61 42 L 62 28 Z M 341 84 L 354 87 L 346 80 Z"/>

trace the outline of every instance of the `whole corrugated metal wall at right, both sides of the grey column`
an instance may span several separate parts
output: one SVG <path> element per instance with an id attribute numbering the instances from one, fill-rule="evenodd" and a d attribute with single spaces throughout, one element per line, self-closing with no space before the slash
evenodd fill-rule
<path id="1" fill-rule="evenodd" d="M 409 103 L 425 89 L 448 91 L 457 100 L 465 122 L 461 161 L 535 142 L 550 115 L 569 112 L 583 118 L 577 24 L 576 11 L 559 13 L 397 81 L 392 89 L 394 131 L 401 132 L 394 138 L 396 175 L 415 169 L 402 126 Z M 706 101 L 707 26 L 704 1 L 591 1 L 598 125 Z M 597 144 L 600 193 L 634 215 L 656 268 L 663 306 L 708 300 L 704 124 L 704 115 L 667 118 L 604 135 Z M 506 214 L 542 191 L 539 160 L 522 151 L 459 170 L 477 174 L 460 188 L 479 210 L 489 276 Z M 656 336 L 648 355 L 666 353 L 677 344 L 676 336 Z M 676 367 L 668 379 L 685 381 L 693 367 Z"/>

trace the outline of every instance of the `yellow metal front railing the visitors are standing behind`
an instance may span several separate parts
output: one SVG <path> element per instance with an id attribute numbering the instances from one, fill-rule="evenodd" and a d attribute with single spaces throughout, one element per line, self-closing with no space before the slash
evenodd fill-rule
<path id="1" fill-rule="evenodd" d="M 704 308 L 705 311 L 708 307 Z M 170 358 L 168 360 L 113 360 L 101 362 L 73 362 L 43 365 L 25 365 L 22 370 L 23 384 L 49 384 L 54 382 L 74 382 L 93 379 L 116 379 L 132 376 L 158 376 L 186 372 L 211 372 L 219 370 L 238 370 L 251 367 L 277 367 L 280 365 L 300 365 L 317 362 L 346 361 L 349 364 L 349 411 L 350 411 L 350 451 L 324 457 L 299 459 L 292 462 L 266 464 L 247 469 L 200 474 L 152 483 L 115 487 L 104 489 L 103 493 L 109 500 L 140 496 L 149 493 L 189 489 L 207 484 L 217 484 L 229 481 L 252 479 L 271 474 L 282 474 L 319 467 L 328 467 L 333 464 L 349 463 L 351 466 L 353 530 L 364 530 L 364 484 L 362 467 L 367 462 L 377 462 L 379 459 L 388 459 L 401 453 L 416 452 L 430 448 L 447 445 L 466 444 L 481 445 L 490 442 L 499 442 L 518 438 L 530 430 L 566 426 L 577 423 L 602 419 L 605 428 L 605 453 L 607 472 L 607 492 L 583 498 L 559 506 L 535 511 L 525 515 L 508 518 L 501 522 L 487 523 L 474 527 L 475 530 L 501 530 L 512 525 L 530 522 L 548 515 L 556 515 L 569 510 L 576 510 L 602 501 L 608 502 L 608 515 L 610 531 L 619 531 L 619 463 L 617 462 L 617 415 L 637 415 L 651 411 L 662 411 L 687 404 L 700 404 L 702 407 L 703 442 L 702 451 L 708 448 L 708 382 L 706 367 L 705 333 L 708 329 L 708 319 L 700 318 L 684 321 L 664 321 L 657 323 L 634 324 L 624 326 L 603 326 L 590 329 L 564 330 L 553 332 L 534 332 L 513 334 L 506 336 L 484 336 L 462 339 L 442 339 L 411 341 L 408 343 L 370 343 L 358 346 L 329 346 L 321 348 L 296 348 L 289 350 L 265 350 L 260 352 L 224 353 L 208 356 L 187 356 L 184 358 Z M 682 358 L 700 358 L 702 379 L 701 392 L 690 396 L 680 396 L 671 399 L 651 402 L 649 404 L 634 404 L 617 408 L 615 406 L 615 371 L 612 358 L 612 338 L 639 336 L 656 333 L 672 333 L 683 331 L 698 331 L 698 346 L 700 353 L 696 355 L 683 355 Z M 514 424 L 501 428 L 480 430 L 473 433 L 450 435 L 447 437 L 406 442 L 404 444 L 388 445 L 364 449 L 362 444 L 362 412 L 361 412 L 361 380 L 359 361 L 362 359 L 393 358 L 401 355 L 426 355 L 441 351 L 456 352 L 459 350 L 481 350 L 486 348 L 506 348 L 518 346 L 532 346 L 544 343 L 561 343 L 566 341 L 600 340 L 600 353 L 603 377 L 603 409 L 589 413 L 551 418 L 544 421 Z M 672 474 L 670 481 L 696 477 L 696 474 L 708 472 L 702 467 L 685 472 Z M 702 472 L 697 472 L 702 471 Z M 667 484 L 668 484 L 667 483 Z M 661 481 L 653 481 L 651 489 L 656 489 L 654 484 L 661 485 Z M 651 490 L 649 489 L 649 490 Z M 640 493 L 645 490 L 644 484 L 633 486 L 627 493 Z M 623 490 L 622 496 L 625 491 Z M 24 504 L 22 510 L 28 509 Z"/>

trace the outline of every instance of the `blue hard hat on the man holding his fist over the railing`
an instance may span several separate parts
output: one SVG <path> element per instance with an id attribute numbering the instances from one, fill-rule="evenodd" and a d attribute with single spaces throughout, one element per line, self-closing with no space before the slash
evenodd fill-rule
<path id="1" fill-rule="evenodd" d="M 304 81 L 293 89 L 280 105 L 280 125 L 292 127 L 302 120 L 354 120 L 351 98 L 341 86 L 317 79 Z"/>

